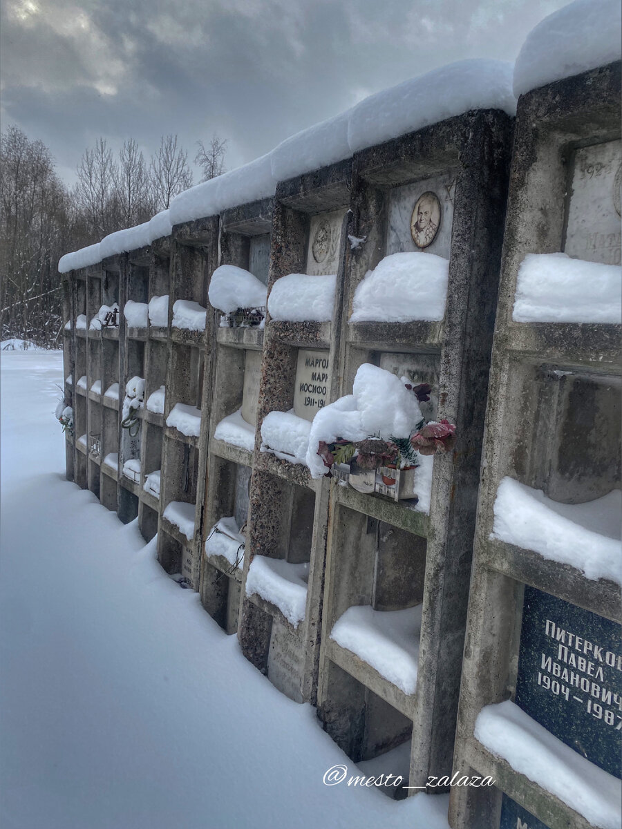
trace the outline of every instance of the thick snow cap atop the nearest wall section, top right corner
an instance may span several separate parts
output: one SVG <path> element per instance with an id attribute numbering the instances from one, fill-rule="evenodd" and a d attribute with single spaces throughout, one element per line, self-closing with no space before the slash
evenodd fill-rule
<path id="1" fill-rule="evenodd" d="M 619 61 L 621 22 L 620 0 L 576 0 L 545 17 L 518 53 L 514 95 Z"/>

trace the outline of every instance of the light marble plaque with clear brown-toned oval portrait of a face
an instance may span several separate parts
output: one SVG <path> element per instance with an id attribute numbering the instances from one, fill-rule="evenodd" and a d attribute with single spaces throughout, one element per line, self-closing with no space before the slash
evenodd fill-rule
<path id="1" fill-rule="evenodd" d="M 424 250 L 449 259 L 455 173 L 394 187 L 389 196 L 386 255 Z"/>

